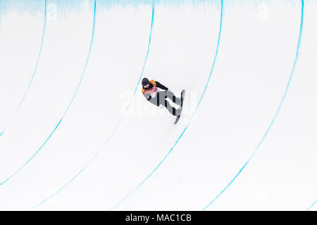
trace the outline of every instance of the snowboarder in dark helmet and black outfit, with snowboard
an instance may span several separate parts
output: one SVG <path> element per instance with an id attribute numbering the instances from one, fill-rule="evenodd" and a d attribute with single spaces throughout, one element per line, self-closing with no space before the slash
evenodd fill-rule
<path id="1" fill-rule="evenodd" d="M 142 93 L 147 101 L 151 102 L 156 106 L 165 106 L 170 112 L 170 114 L 176 116 L 176 122 L 178 122 L 180 118 L 180 113 L 182 113 L 182 102 L 185 95 L 185 90 L 182 90 L 182 94 L 180 98 L 176 97 L 170 89 L 161 84 L 160 82 L 156 82 L 153 79 L 149 81 L 147 78 L 142 79 Z M 178 108 L 174 108 L 170 105 L 170 103 L 166 100 L 169 98 L 170 101 L 173 101 Z"/>

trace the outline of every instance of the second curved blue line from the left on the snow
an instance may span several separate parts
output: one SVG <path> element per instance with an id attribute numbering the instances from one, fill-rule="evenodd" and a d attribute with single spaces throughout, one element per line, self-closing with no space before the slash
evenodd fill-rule
<path id="1" fill-rule="evenodd" d="M 87 68 L 87 65 L 88 65 L 88 61 L 89 61 L 89 56 L 90 56 L 90 52 L 92 50 L 92 43 L 93 43 L 93 40 L 94 40 L 94 27 L 95 27 L 95 20 L 96 20 L 96 0 L 94 1 L 94 22 L 93 22 L 93 25 L 92 25 L 92 39 L 90 41 L 90 46 L 89 46 L 89 51 L 88 51 L 88 55 L 87 55 L 87 59 L 86 59 L 86 63 L 85 63 L 85 67 L 84 67 L 84 70 L 82 72 L 82 75 L 80 77 L 80 82 L 78 83 L 77 85 L 77 89 L 73 95 L 73 97 L 71 98 L 70 100 L 70 103 L 68 104 L 68 107 L 66 108 L 66 111 L 65 113 L 63 114 L 63 116 L 61 117 L 61 120 L 59 120 L 58 124 L 56 125 L 56 127 L 54 128 L 53 131 L 51 131 L 51 134 L 49 135 L 49 137 L 44 141 L 44 143 L 42 144 L 42 146 L 19 168 L 17 169 L 13 174 L 11 174 L 11 176 L 8 176 L 8 178 L 4 181 L 2 181 L 0 183 L 0 185 L 6 183 L 6 181 L 8 181 L 9 179 L 11 179 L 13 176 L 15 176 L 15 174 L 17 174 L 21 169 L 23 169 L 23 167 L 25 167 L 25 165 L 27 165 L 28 162 L 30 162 L 30 160 L 32 160 L 32 158 L 35 157 L 35 155 L 37 155 L 37 153 L 39 153 L 40 150 L 42 150 L 42 148 L 45 146 L 45 144 L 47 143 L 47 141 L 49 141 L 49 139 L 51 139 L 51 136 L 54 134 L 54 132 L 56 131 L 56 129 L 59 127 L 59 125 L 61 124 L 63 118 L 66 116 L 66 114 L 68 113 L 68 110 L 70 108 L 70 105 L 72 105 L 73 101 L 74 101 L 74 98 L 77 94 L 77 91 L 79 90 L 80 88 L 80 84 L 82 83 L 82 79 L 85 75 L 85 71 L 86 71 L 86 68 Z"/>

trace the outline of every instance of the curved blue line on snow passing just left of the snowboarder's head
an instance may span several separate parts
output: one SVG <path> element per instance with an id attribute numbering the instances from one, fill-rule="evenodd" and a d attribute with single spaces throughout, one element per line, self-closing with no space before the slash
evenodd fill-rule
<path id="1" fill-rule="evenodd" d="M 125 111 L 123 113 L 123 115 L 120 117 L 120 120 L 118 121 L 118 124 L 116 124 L 115 129 L 113 129 L 113 131 L 111 132 L 110 136 L 108 136 L 108 139 L 106 139 L 106 141 L 104 142 L 104 144 L 101 146 L 100 150 L 94 155 L 94 157 L 89 160 L 89 162 L 87 162 L 87 164 L 85 165 L 85 167 L 82 167 L 82 169 L 80 169 L 79 172 L 77 172 L 77 174 L 75 174 L 75 176 L 73 176 L 72 179 L 70 179 L 64 186 L 62 186 L 61 188 L 58 189 L 58 191 L 56 191 L 54 194 L 52 194 L 51 196 L 49 196 L 48 198 L 42 200 L 41 203 L 35 205 L 34 207 L 32 207 L 30 210 L 35 209 L 36 207 L 39 207 L 39 205 L 42 205 L 43 203 L 45 203 L 47 200 L 53 198 L 55 195 L 57 195 L 59 192 L 61 192 L 64 188 L 66 188 L 66 186 L 68 186 L 78 175 L 80 175 L 91 163 L 92 161 L 94 161 L 95 158 L 97 158 L 97 156 L 99 155 L 99 153 L 101 153 L 101 150 L 103 150 L 104 146 L 106 146 L 106 144 L 108 143 L 108 141 L 111 139 L 111 137 L 113 136 L 113 134 L 116 132 L 116 130 L 118 129 L 119 125 L 121 124 L 123 117 L 125 117 L 125 113 L 127 113 L 128 109 L 130 108 L 130 104 L 132 103 L 132 100 L 135 96 L 135 93 L 137 91 L 137 86 L 139 85 L 139 82 L 142 78 L 143 72 L 144 72 L 144 68 L 145 65 L 147 64 L 147 58 L 149 56 L 149 48 L 151 45 L 151 35 L 152 35 L 152 29 L 153 29 L 153 23 L 154 23 L 154 6 L 152 6 L 152 17 L 151 17 L 151 30 L 150 30 L 150 34 L 149 34 L 149 45 L 147 46 L 147 56 L 145 56 L 145 60 L 144 60 L 144 64 L 143 64 L 143 68 L 142 68 L 142 72 L 139 75 L 139 80 L 137 81 L 137 85 L 135 86 L 135 91 L 133 91 L 133 94 L 130 98 L 130 102 L 128 103 L 127 108 L 125 108 Z"/>

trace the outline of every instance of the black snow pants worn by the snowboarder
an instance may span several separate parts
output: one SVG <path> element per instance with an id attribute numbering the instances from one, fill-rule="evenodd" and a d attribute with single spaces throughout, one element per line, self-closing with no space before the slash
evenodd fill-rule
<path id="1" fill-rule="evenodd" d="M 179 105 L 179 108 L 174 108 L 172 105 L 170 105 L 166 98 L 170 98 L 173 103 Z M 157 106 L 164 105 L 167 108 L 168 112 L 175 116 L 180 115 L 180 112 L 182 111 L 182 108 L 180 107 L 180 105 L 182 104 L 182 100 L 176 97 L 172 91 L 160 91 L 159 94 L 157 94 L 156 97 L 152 98 L 150 101 Z"/>

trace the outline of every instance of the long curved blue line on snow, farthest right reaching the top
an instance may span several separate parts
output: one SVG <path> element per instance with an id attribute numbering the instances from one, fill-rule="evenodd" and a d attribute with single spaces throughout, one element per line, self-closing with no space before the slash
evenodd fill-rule
<path id="1" fill-rule="evenodd" d="M 259 142 L 259 144 L 256 146 L 254 152 L 251 154 L 251 157 L 247 160 L 247 162 L 243 165 L 243 167 L 240 169 L 240 171 L 235 175 L 235 177 L 233 177 L 233 179 L 229 182 L 229 184 L 227 186 L 225 186 L 225 188 L 223 188 L 222 191 L 220 191 L 220 193 L 216 196 L 216 198 L 214 198 L 208 205 L 206 205 L 206 207 L 204 207 L 203 211 L 206 210 L 217 198 L 219 198 L 219 196 L 232 184 L 233 181 L 235 181 L 235 179 L 237 178 L 237 176 L 239 176 L 239 174 L 242 172 L 242 170 L 244 169 L 244 167 L 246 167 L 249 163 L 249 161 L 254 157 L 254 154 L 256 153 L 256 151 L 259 149 L 259 147 L 261 146 L 261 144 L 263 143 L 264 139 L 266 139 L 266 136 L 268 134 L 268 131 L 270 131 L 273 123 L 275 122 L 276 117 L 278 117 L 278 113 L 280 113 L 280 108 L 282 107 L 282 104 L 284 103 L 287 91 L 289 89 L 290 86 L 290 82 L 292 81 L 292 77 L 293 77 L 293 73 L 295 70 L 295 67 L 297 65 L 297 58 L 299 55 L 299 46 L 301 44 L 301 39 L 302 39 L 302 30 L 303 30 L 303 23 L 304 23 L 304 0 L 302 0 L 302 15 L 301 15 L 301 25 L 299 28 L 299 39 L 297 42 L 297 49 L 296 49 L 296 55 L 295 55 L 295 59 L 294 59 L 294 63 L 293 63 L 293 67 L 292 67 L 292 71 L 290 73 L 290 78 L 288 79 L 287 82 L 287 86 L 285 88 L 284 94 L 282 96 L 282 100 L 280 101 L 280 105 L 278 105 L 278 110 L 276 110 L 275 115 L 270 123 L 270 125 L 268 126 L 268 129 L 266 130 L 265 134 L 263 135 L 261 141 Z"/>

